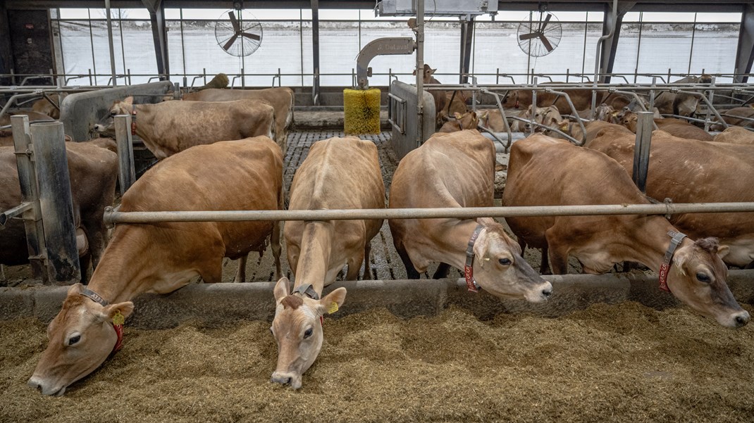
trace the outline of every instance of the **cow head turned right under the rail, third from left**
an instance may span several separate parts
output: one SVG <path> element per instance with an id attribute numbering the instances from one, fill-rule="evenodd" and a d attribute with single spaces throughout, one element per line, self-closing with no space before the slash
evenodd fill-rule
<path id="1" fill-rule="evenodd" d="M 492 218 L 480 218 L 484 226 L 474 242 L 474 280 L 495 297 L 547 300 L 553 285 L 545 281 L 521 256 L 520 246 Z"/>

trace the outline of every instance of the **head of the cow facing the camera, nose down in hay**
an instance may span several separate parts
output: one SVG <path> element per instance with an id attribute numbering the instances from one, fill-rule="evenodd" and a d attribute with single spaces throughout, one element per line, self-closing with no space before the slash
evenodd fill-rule
<path id="1" fill-rule="evenodd" d="M 288 278 L 280 278 L 274 288 L 277 307 L 270 330 L 277 342 L 277 368 L 271 382 L 299 389 L 302 374 L 322 348 L 322 317 L 343 305 L 345 288 L 314 300 L 299 293 L 288 294 L 288 285 Z"/>

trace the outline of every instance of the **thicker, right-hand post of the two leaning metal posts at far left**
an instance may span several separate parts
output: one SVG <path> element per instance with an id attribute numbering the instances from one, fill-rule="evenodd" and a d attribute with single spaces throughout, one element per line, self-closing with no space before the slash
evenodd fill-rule
<path id="1" fill-rule="evenodd" d="M 50 280 L 80 280 L 81 269 L 76 248 L 76 228 L 63 123 L 36 123 L 31 126 L 30 132 Z"/>

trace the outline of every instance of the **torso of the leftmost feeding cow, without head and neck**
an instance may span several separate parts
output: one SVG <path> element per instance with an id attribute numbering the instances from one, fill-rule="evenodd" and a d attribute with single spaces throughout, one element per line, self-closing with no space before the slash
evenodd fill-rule
<path id="1" fill-rule="evenodd" d="M 121 211 L 274 210 L 282 179 L 282 154 L 268 137 L 198 145 L 149 169 L 124 194 Z M 264 249 L 272 227 L 270 221 L 172 222 L 156 225 L 151 239 L 169 249 L 222 241 L 225 257 L 235 259 Z"/>

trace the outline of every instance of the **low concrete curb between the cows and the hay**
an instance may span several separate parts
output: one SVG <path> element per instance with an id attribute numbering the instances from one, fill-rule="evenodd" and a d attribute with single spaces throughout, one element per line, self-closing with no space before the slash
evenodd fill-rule
<path id="1" fill-rule="evenodd" d="M 480 319 L 499 313 L 530 313 L 545 317 L 565 315 L 593 303 L 636 301 L 662 309 L 682 306 L 673 295 L 657 287 L 657 277 L 635 274 L 551 275 L 553 297 L 544 303 L 500 300 L 482 291 L 468 292 L 463 279 L 415 281 L 343 281 L 326 292 L 345 287 L 343 307 L 332 317 L 385 307 L 403 318 L 435 315 L 449 306 L 474 312 Z M 728 278 L 739 303 L 754 304 L 754 271 L 734 270 Z M 215 326 L 238 320 L 271 321 L 274 316 L 273 282 L 189 285 L 172 294 L 144 294 L 134 300 L 136 309 L 127 319 L 131 327 L 158 329 L 183 321 Z M 48 322 L 60 311 L 68 287 L 0 288 L 0 319 L 36 317 Z"/>

